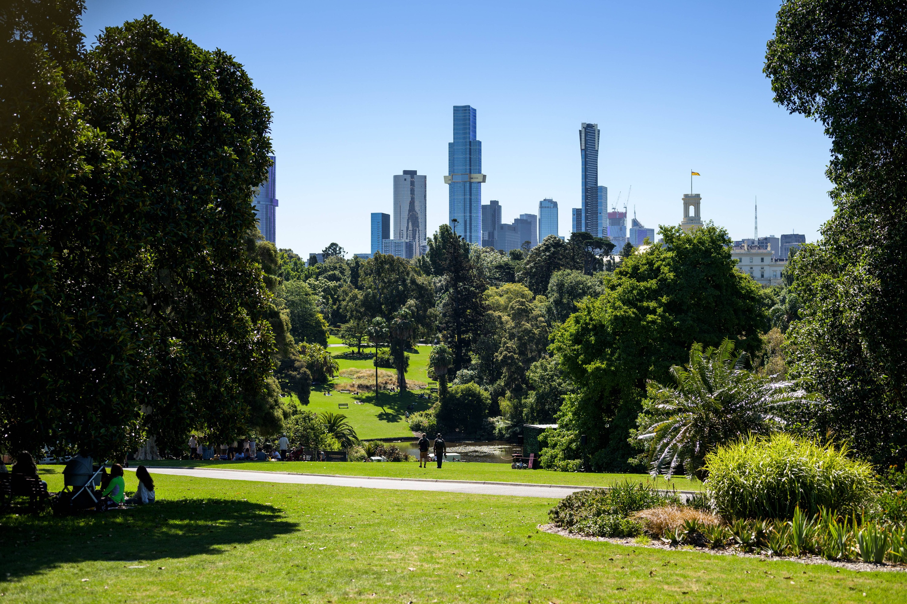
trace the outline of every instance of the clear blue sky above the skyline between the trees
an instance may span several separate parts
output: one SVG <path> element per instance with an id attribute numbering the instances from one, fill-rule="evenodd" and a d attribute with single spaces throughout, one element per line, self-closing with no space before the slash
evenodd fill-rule
<path id="1" fill-rule="evenodd" d="M 83 30 L 154 15 L 243 63 L 274 112 L 278 248 L 369 251 L 394 174 L 428 176 L 447 220 L 452 107 L 471 104 L 483 202 L 503 219 L 580 206 L 580 122 L 601 130 L 599 183 L 647 227 L 678 224 L 689 170 L 731 237 L 804 233 L 832 215 L 819 124 L 772 102 L 762 73 L 778 2 L 88 0 Z"/>

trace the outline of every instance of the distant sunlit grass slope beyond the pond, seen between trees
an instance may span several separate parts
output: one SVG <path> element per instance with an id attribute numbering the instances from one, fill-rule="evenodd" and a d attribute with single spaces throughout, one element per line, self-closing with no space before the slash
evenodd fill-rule
<path id="1" fill-rule="evenodd" d="M 349 368 L 375 370 L 375 365 L 372 364 L 371 358 L 348 359 L 341 357 L 340 355 L 350 350 L 346 346 L 331 346 L 327 350 L 336 357 L 337 363 L 340 365 L 340 371 Z M 431 351 L 431 346 L 417 346 L 416 350 L 418 354 L 410 354 L 409 370 L 406 372 L 406 377 L 407 379 L 427 384 L 428 355 Z M 431 406 L 431 401 L 418 396 L 419 393 L 427 391 L 402 394 L 382 391 L 378 393 L 378 401 L 375 404 L 374 393 L 352 395 L 338 392 L 334 387 L 335 384 L 343 385 L 348 382 L 352 382 L 352 380 L 338 376 L 328 384 L 314 386 L 306 409 L 315 413 L 333 411 L 334 413 L 346 415 L 349 423 L 353 425 L 356 429 L 356 434 L 361 439 L 408 438 L 413 435 L 413 432 L 406 424 L 405 412 L 407 407 L 412 404 L 413 411 L 424 411 Z M 330 394 L 330 396 L 326 396 L 325 393 Z M 348 404 L 349 408 L 341 409 L 341 403 Z"/>

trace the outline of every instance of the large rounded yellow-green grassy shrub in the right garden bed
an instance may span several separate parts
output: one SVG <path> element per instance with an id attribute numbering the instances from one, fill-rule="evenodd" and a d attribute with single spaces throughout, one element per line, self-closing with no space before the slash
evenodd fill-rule
<path id="1" fill-rule="evenodd" d="M 726 518 L 813 516 L 820 506 L 847 514 L 861 508 L 877 485 L 868 463 L 847 447 L 822 446 L 790 434 L 750 436 L 706 456 L 707 492 Z"/>

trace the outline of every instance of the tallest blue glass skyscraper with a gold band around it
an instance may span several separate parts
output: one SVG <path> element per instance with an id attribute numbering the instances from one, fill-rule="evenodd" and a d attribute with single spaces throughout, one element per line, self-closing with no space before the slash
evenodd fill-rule
<path id="1" fill-rule="evenodd" d="M 482 141 L 475 138 L 475 109 L 453 106 L 453 142 L 447 144 L 450 225 L 457 235 L 482 245 Z M 456 220 L 456 222 L 453 222 Z"/>

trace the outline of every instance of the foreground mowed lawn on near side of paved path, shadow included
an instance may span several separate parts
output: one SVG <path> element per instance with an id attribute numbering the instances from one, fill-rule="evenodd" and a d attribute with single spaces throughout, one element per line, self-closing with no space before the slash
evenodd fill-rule
<path id="1" fill-rule="evenodd" d="M 130 511 L 0 516 L 4 601 L 903 602 L 907 589 L 904 573 L 537 531 L 554 500 L 155 481 L 161 501 Z"/>

